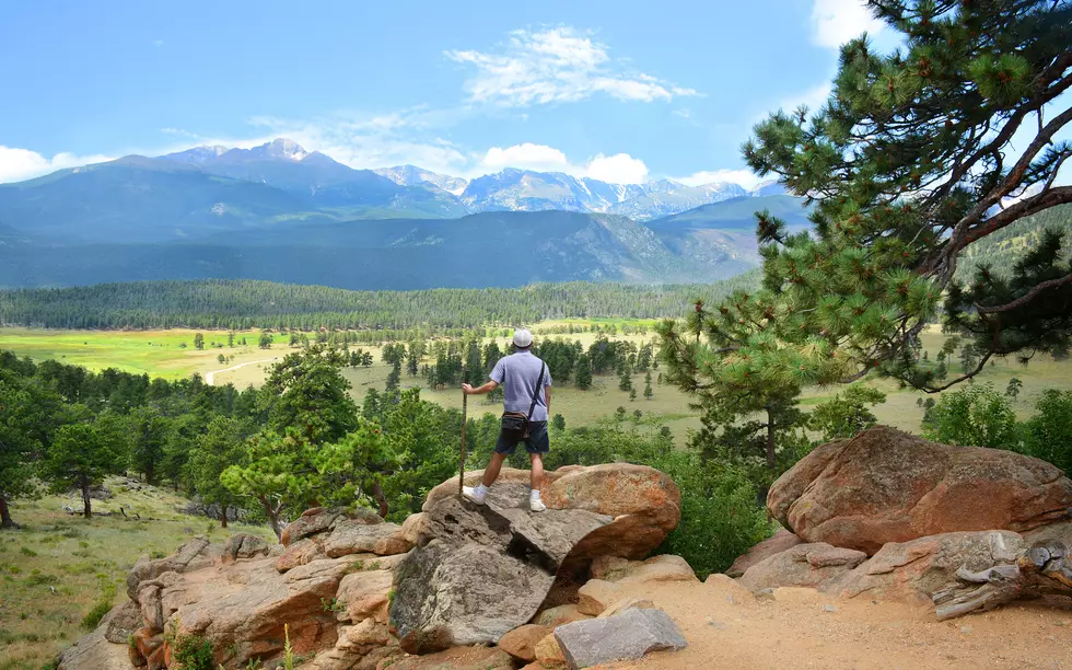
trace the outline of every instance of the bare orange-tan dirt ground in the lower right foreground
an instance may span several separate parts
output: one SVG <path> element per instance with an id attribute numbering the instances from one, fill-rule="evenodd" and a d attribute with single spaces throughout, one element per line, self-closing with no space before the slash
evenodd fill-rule
<path id="1" fill-rule="evenodd" d="M 1072 668 L 1072 604 L 1023 604 L 935 621 L 924 607 L 779 589 L 756 601 L 735 582 L 628 587 L 665 610 L 688 648 L 603 670 L 641 668 Z"/>

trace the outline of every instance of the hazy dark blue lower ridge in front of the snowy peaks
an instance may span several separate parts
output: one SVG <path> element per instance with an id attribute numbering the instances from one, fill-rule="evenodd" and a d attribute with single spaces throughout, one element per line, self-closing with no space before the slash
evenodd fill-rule
<path id="1" fill-rule="evenodd" d="M 681 258 L 629 219 L 564 211 L 280 224 L 167 244 L 0 244 L 4 287 L 244 278 L 361 289 L 475 288 L 707 281 L 738 269 Z"/>

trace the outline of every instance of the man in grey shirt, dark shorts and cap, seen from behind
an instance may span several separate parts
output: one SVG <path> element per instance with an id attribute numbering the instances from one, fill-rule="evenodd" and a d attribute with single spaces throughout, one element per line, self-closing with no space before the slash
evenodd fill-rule
<path id="1" fill-rule="evenodd" d="M 514 452 L 518 442 L 525 442 L 533 464 L 533 490 L 528 498 L 528 508 L 533 511 L 547 509 L 539 497 L 539 486 L 544 478 L 544 454 L 550 450 L 547 417 L 551 406 L 551 373 L 543 360 L 533 356 L 529 350 L 532 346 L 533 334 L 517 328 L 514 331 L 516 351 L 499 359 L 491 371 L 491 381 L 475 389 L 469 384 L 462 384 L 462 391 L 466 395 L 490 393 L 500 385 L 503 386 L 503 426 L 496 442 L 496 452 L 491 455 L 491 463 L 483 471 L 483 481 L 480 484 L 462 489 L 462 495 L 477 505 L 483 505 L 488 488 L 499 478 L 502 462 Z M 527 420 L 522 420 L 523 417 L 527 417 Z M 525 426 L 525 429 L 512 429 L 513 425 Z"/>

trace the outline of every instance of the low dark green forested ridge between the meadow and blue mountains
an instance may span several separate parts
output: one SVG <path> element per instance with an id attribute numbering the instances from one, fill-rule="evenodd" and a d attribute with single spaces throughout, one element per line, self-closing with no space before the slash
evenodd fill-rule
<path id="1" fill-rule="evenodd" d="M 548 319 L 680 316 L 759 282 L 756 270 L 706 285 L 575 281 L 522 288 L 351 291 L 255 280 L 142 281 L 0 291 L 0 324 L 50 328 L 413 328 Z"/>

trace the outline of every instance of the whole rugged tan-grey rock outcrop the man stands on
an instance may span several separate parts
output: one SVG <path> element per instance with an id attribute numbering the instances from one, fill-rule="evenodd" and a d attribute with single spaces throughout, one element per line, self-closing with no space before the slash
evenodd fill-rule
<path id="1" fill-rule="evenodd" d="M 505 670 L 539 660 L 538 648 L 564 663 L 554 631 L 591 615 L 552 607 L 557 578 L 569 576 L 573 600 L 593 561 L 624 584 L 696 579 L 677 557 L 637 561 L 678 521 L 678 490 L 662 473 L 628 464 L 548 473 L 550 509 L 538 515 L 527 478 L 504 472 L 486 506 L 463 501 L 457 480 L 447 482 L 400 525 L 369 510 L 316 508 L 279 545 L 250 534 L 190 540 L 139 561 L 130 600 L 61 667 L 176 668 L 175 650 L 190 639 L 212 647 L 214 667 L 273 667 L 288 638 L 313 670 Z M 618 600 L 607 599 L 604 619 L 652 604 Z M 485 646 L 496 642 L 502 647 Z"/>

